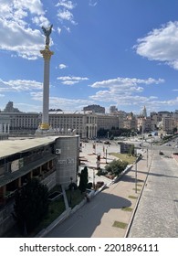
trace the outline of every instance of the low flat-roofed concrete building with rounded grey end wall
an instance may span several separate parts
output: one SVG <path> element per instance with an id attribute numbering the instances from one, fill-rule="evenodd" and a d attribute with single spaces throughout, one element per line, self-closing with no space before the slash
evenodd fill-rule
<path id="1" fill-rule="evenodd" d="M 14 195 L 31 178 L 49 189 L 68 188 L 71 177 L 77 181 L 79 136 L 43 136 L 1 142 L 0 156 L 0 235 L 14 224 Z"/>

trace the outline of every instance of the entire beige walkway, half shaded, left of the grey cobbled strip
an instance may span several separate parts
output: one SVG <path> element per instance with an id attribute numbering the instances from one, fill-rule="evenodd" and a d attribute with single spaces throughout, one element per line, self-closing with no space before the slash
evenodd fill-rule
<path id="1" fill-rule="evenodd" d="M 46 237 L 123 238 L 132 215 L 131 211 L 125 211 L 123 208 L 133 209 L 136 205 L 136 198 L 141 193 L 141 187 L 148 173 L 146 158 L 138 162 L 137 170 L 138 192 L 135 191 L 135 166 L 133 166 L 118 183 L 110 185 L 93 197 L 89 203 L 52 229 Z M 115 227 L 113 225 L 115 222 L 126 224 L 126 228 Z"/>

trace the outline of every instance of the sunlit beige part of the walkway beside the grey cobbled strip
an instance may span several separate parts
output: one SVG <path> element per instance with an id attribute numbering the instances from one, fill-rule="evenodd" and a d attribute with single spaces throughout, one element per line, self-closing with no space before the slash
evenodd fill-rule
<path id="1" fill-rule="evenodd" d="M 110 197 L 110 203 L 107 203 L 110 204 L 110 210 L 103 214 L 100 224 L 93 232 L 92 237 L 127 237 L 131 220 L 140 201 L 148 170 L 147 160 L 143 157 L 137 163 L 137 172 L 135 165 L 133 165 L 131 170 L 122 176 L 118 183 L 102 191 L 104 197 L 107 195 L 115 197 Z M 135 182 L 136 175 L 137 182 Z M 118 198 L 118 203 L 116 198 Z"/>

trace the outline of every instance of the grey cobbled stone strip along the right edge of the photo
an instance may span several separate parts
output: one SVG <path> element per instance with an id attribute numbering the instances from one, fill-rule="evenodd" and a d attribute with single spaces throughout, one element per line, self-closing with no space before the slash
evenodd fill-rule
<path id="1" fill-rule="evenodd" d="M 178 237 L 178 162 L 176 160 L 170 155 L 161 156 L 159 151 L 154 152 L 150 173 L 128 237 Z"/>

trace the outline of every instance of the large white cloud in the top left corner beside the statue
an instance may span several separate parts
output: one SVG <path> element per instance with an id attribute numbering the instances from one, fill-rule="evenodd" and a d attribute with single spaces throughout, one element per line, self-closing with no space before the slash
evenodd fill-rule
<path id="1" fill-rule="evenodd" d="M 47 18 L 40 0 L 1 0 L 0 8 L 0 49 L 12 51 L 13 56 L 37 59 L 38 49 L 44 46 L 42 33 L 32 28 L 47 25 Z M 31 18 L 31 20 L 30 20 Z"/>

